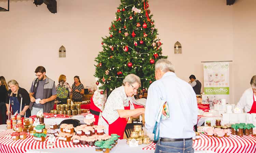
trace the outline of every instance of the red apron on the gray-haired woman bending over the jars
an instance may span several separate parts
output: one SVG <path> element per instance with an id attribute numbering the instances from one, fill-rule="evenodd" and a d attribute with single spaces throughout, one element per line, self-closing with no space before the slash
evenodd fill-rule
<path id="1" fill-rule="evenodd" d="M 125 107 L 125 110 L 130 110 L 130 101 L 129 101 L 129 106 Z M 102 116 L 104 119 L 104 117 Z M 109 122 L 104 119 L 106 123 L 109 124 Z M 123 139 L 124 137 L 124 132 L 125 132 L 125 126 L 128 122 L 128 118 L 120 118 L 118 117 L 117 120 L 115 120 L 112 124 L 109 124 L 109 135 L 111 134 L 117 134 L 120 136 L 119 139 Z"/>

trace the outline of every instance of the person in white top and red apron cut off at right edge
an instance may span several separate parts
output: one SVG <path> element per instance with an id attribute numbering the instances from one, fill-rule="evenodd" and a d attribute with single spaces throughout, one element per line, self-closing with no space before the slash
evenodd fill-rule
<path id="1" fill-rule="evenodd" d="M 256 113 L 256 75 L 251 79 L 251 87 L 246 89 L 237 103 L 237 107 L 247 113 Z"/>

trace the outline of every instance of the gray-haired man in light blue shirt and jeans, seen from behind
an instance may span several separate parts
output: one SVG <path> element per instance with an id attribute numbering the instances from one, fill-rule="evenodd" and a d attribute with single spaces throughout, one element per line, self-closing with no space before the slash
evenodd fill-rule
<path id="1" fill-rule="evenodd" d="M 148 88 L 145 127 L 153 132 L 160 100 L 168 102 L 170 118 L 160 121 L 160 134 L 155 153 L 194 152 L 193 126 L 197 123 L 197 100 L 193 88 L 174 73 L 174 66 L 166 59 L 155 65 L 156 80 Z M 174 148 L 173 148 L 174 147 Z"/>

